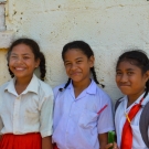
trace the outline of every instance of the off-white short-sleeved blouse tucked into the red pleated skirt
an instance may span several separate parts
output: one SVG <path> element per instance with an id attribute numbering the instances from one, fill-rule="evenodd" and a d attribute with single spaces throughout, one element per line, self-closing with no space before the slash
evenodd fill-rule
<path id="1" fill-rule="evenodd" d="M 0 87 L 0 132 L 24 135 L 41 132 L 52 135 L 53 92 L 33 75 L 20 95 L 14 88 L 15 78 Z"/>

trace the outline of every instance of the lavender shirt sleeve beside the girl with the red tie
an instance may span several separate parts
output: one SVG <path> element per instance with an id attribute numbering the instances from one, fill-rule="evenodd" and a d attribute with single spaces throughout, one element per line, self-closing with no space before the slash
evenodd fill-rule
<path id="1" fill-rule="evenodd" d="M 98 117 L 98 134 L 108 132 L 114 130 L 114 113 L 113 113 L 113 104 L 108 96 L 103 97 L 103 107 L 107 105 L 107 107 L 99 114 Z"/>

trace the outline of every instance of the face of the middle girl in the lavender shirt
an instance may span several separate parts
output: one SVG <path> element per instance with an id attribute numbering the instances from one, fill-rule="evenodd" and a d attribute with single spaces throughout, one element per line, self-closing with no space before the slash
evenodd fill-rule
<path id="1" fill-rule="evenodd" d="M 88 81 L 91 67 L 94 66 L 94 56 L 88 58 L 79 49 L 71 49 L 64 54 L 64 65 L 73 82 Z"/>

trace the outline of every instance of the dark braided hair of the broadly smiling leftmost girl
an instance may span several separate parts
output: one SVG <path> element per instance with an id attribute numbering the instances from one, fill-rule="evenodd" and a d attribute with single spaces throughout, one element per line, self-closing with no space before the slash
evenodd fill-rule
<path id="1" fill-rule="evenodd" d="M 43 53 L 40 51 L 39 44 L 31 39 L 18 39 L 11 44 L 11 46 L 9 47 L 9 51 L 7 53 L 8 67 L 9 67 L 10 54 L 11 54 L 13 47 L 19 45 L 19 44 L 25 44 L 25 45 L 30 46 L 31 51 L 34 54 L 35 60 L 40 58 L 41 79 L 44 81 L 45 73 L 46 73 L 45 57 L 44 57 Z M 10 72 L 11 77 L 14 77 L 14 74 L 11 72 L 10 68 L 9 68 L 9 72 Z"/>

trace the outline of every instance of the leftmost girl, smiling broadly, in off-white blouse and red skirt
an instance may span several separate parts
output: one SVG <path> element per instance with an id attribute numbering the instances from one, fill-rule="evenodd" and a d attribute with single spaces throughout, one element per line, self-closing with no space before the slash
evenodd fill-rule
<path id="1" fill-rule="evenodd" d="M 7 60 L 12 79 L 0 87 L 0 149 L 52 149 L 53 92 L 43 82 L 43 53 L 35 41 L 19 39 Z"/>

